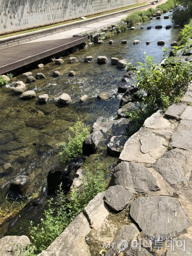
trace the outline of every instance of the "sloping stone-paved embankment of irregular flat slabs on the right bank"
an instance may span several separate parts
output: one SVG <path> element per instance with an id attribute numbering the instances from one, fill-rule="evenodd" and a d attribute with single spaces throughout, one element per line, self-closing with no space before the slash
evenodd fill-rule
<path id="1" fill-rule="evenodd" d="M 192 86 L 182 103 L 145 120 L 126 140 L 108 189 L 39 256 L 192 255 L 191 103 Z M 121 122 L 98 120 L 92 134 Z"/>

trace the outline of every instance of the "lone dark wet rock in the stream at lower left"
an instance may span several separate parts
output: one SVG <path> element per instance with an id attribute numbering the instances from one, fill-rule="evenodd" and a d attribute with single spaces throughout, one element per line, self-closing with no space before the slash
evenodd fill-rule
<path id="1" fill-rule="evenodd" d="M 19 195 L 24 195 L 30 184 L 29 176 L 19 175 L 12 180 L 9 189 Z"/>

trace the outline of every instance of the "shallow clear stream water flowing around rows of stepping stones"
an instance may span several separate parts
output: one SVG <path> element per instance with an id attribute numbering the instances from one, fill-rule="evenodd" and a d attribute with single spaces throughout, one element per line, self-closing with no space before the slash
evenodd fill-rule
<path id="1" fill-rule="evenodd" d="M 164 15 L 169 15 L 164 14 Z M 35 90 L 36 95 L 43 93 L 49 95 L 47 104 L 40 104 L 38 99 L 23 101 L 9 87 L 0 88 L 0 165 L 11 163 L 12 173 L 0 178 L 0 203 L 5 199 L 9 191 L 10 182 L 17 175 L 28 175 L 31 179 L 26 195 L 38 195 L 46 192 L 47 174 L 50 170 L 62 168 L 59 163 L 58 145 L 67 141 L 69 126 L 78 119 L 88 125 L 99 116 L 113 118 L 119 109 L 122 94 L 117 93 L 117 87 L 126 70 L 120 70 L 111 65 L 111 57 L 126 58 L 128 62 L 137 65 L 138 61 L 144 61 L 143 52 L 151 55 L 155 62 L 163 58 L 162 48 L 171 48 L 171 42 L 177 40 L 177 29 L 165 29 L 172 24 L 172 20 L 163 19 L 148 20 L 137 26 L 134 31 L 114 35 L 104 41 L 102 45 L 93 45 L 74 54 L 64 56 L 64 64 L 55 65 L 49 63 L 39 69 L 30 70 L 35 76 L 42 72 L 45 79 L 36 80 L 27 84 L 27 90 Z M 151 30 L 147 30 L 147 26 Z M 162 25 L 163 29 L 155 29 L 156 25 Z M 109 45 L 113 39 L 114 44 Z M 140 44 L 133 45 L 133 41 L 140 40 Z M 128 44 L 121 44 L 127 40 Z M 164 40 L 165 45 L 158 46 L 157 41 Z M 151 44 L 146 45 L 146 41 Z M 84 57 L 93 56 L 91 63 L 84 63 Z M 108 63 L 97 64 L 97 56 L 104 55 Z M 75 56 L 79 62 L 70 64 L 70 56 Z M 52 72 L 58 70 L 60 76 L 55 78 Z M 76 72 L 76 76 L 69 77 L 70 70 Z M 19 75 L 13 81 L 23 81 L 25 76 Z M 56 84 L 56 85 L 53 85 Z M 108 101 L 101 101 L 96 96 L 107 91 L 112 95 Z M 56 99 L 62 93 L 68 93 L 73 101 L 71 105 L 61 106 Z M 86 102 L 80 103 L 81 96 L 87 94 Z"/>

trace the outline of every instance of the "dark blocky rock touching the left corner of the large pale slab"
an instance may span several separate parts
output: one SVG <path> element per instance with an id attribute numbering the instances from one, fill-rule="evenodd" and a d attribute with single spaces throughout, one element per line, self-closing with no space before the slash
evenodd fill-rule
<path id="1" fill-rule="evenodd" d="M 125 135 L 111 137 L 107 145 L 108 153 L 113 157 L 119 157 L 127 140 L 128 136 Z"/>

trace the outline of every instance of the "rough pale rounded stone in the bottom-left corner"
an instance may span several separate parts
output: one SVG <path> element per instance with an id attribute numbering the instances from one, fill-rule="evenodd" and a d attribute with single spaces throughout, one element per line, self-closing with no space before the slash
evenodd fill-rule
<path id="1" fill-rule="evenodd" d="M 22 255 L 21 248 L 31 244 L 27 236 L 4 236 L 0 239 L 0 256 Z"/>

